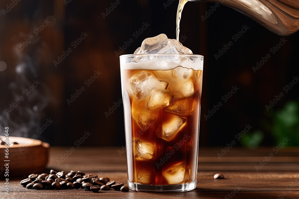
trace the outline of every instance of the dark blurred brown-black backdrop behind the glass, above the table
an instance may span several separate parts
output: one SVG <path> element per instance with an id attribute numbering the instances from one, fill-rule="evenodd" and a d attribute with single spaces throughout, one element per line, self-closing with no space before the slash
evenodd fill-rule
<path id="1" fill-rule="evenodd" d="M 115 2 L 1 1 L 1 132 L 8 126 L 10 136 L 72 146 L 88 131 L 83 146 L 125 144 L 119 55 L 160 33 L 175 38 L 179 0 Z M 200 146 L 235 140 L 256 148 L 286 137 L 287 145 L 299 146 L 299 83 L 286 89 L 299 75 L 298 35 L 276 35 L 222 5 L 204 18 L 211 6 L 188 2 L 181 20 L 180 41 L 205 57 Z M 235 41 L 243 26 L 249 29 Z M 216 59 L 229 41 L 233 45 Z M 253 69 L 268 53 L 271 58 Z M 238 90 L 228 99 L 232 87 Z M 245 125 L 250 130 L 239 140 Z"/>

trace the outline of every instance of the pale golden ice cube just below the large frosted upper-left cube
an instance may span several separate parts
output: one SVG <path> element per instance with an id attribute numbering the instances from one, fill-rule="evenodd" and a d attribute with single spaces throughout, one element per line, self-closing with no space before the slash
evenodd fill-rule
<path id="1" fill-rule="evenodd" d="M 149 95 L 147 109 L 155 110 L 169 105 L 172 100 L 172 95 L 168 92 L 154 89 Z"/>

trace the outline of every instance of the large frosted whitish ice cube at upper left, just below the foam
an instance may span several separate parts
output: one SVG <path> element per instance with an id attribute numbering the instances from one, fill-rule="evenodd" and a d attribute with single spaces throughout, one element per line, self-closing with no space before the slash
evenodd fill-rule
<path id="1" fill-rule="evenodd" d="M 130 79 L 132 92 L 137 100 L 146 97 L 152 89 L 166 90 L 167 81 L 158 80 L 151 72 L 140 71 Z"/>

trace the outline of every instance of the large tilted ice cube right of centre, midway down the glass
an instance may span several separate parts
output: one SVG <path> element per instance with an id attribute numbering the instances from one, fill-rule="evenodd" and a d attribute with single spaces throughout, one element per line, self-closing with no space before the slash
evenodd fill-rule
<path id="1" fill-rule="evenodd" d="M 158 125 L 156 135 L 158 138 L 170 141 L 176 137 L 177 132 L 184 128 L 186 119 L 175 114 L 167 114 L 165 118 L 166 120 Z"/>

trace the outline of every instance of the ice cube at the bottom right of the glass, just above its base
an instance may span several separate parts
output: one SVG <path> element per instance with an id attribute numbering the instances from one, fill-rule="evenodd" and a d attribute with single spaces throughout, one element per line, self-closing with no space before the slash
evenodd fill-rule
<path id="1" fill-rule="evenodd" d="M 179 184 L 184 182 L 185 170 L 185 163 L 178 162 L 166 168 L 162 175 L 168 184 Z"/>

